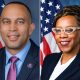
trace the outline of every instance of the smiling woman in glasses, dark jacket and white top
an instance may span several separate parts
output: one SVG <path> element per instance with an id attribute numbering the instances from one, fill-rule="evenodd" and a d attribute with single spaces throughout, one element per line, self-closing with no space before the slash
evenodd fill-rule
<path id="1" fill-rule="evenodd" d="M 45 58 L 41 80 L 80 80 L 80 7 L 64 7 L 53 26 L 61 52 Z"/>

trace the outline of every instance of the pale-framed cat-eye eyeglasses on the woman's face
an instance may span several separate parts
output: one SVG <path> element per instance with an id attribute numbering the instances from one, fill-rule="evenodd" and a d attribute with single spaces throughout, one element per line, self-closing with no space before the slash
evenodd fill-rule
<path id="1" fill-rule="evenodd" d="M 67 27 L 67 28 L 52 28 L 52 31 L 55 33 L 55 34 L 61 34 L 62 31 L 64 31 L 66 34 L 71 34 L 73 33 L 74 31 L 76 30 L 79 30 L 80 27 Z"/>

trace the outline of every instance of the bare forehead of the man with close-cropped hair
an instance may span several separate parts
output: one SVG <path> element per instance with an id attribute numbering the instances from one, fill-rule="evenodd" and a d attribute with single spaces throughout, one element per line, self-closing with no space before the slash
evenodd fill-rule
<path id="1" fill-rule="evenodd" d="M 19 4 L 9 4 L 4 7 L 1 16 L 20 16 L 20 15 L 29 15 L 29 12 L 23 5 Z"/>

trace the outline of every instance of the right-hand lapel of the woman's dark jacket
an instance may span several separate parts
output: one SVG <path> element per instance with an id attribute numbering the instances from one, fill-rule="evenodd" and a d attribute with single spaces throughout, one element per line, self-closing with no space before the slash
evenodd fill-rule
<path id="1" fill-rule="evenodd" d="M 71 75 L 80 70 L 80 53 L 76 56 L 74 61 L 66 68 L 66 70 L 57 77 L 56 80 L 67 80 L 70 78 Z"/>

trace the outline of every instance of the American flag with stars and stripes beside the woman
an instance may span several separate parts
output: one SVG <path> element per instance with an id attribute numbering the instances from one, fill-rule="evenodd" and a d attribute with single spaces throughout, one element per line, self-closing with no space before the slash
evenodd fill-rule
<path id="1" fill-rule="evenodd" d="M 42 65 L 45 56 L 50 53 L 60 52 L 52 32 L 53 22 L 56 14 L 62 9 L 59 0 L 40 1 L 40 21 L 41 21 L 41 44 L 40 44 L 40 64 Z"/>

